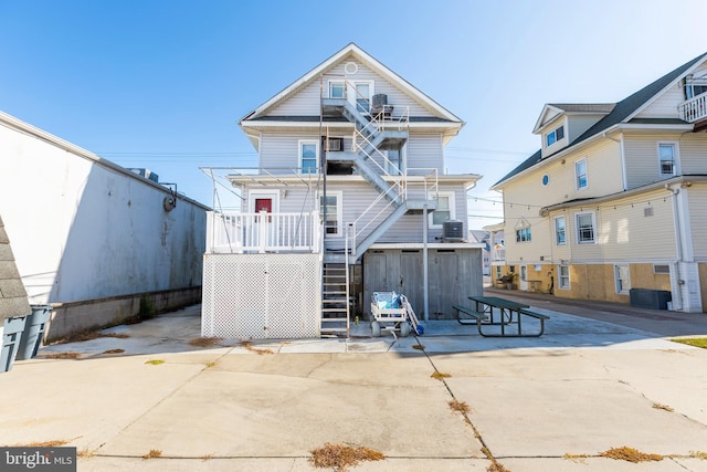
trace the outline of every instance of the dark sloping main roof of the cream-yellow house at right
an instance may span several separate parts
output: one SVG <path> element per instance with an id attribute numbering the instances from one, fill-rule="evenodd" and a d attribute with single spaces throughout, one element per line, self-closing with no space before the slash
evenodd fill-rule
<path id="1" fill-rule="evenodd" d="M 492 186 L 492 189 L 496 188 L 499 183 L 517 176 L 518 174 L 531 168 L 536 164 L 542 160 L 547 160 L 548 158 L 559 153 L 566 153 L 567 150 L 579 145 L 580 143 L 608 130 L 612 126 L 619 125 L 621 123 L 631 122 L 636 114 L 639 114 L 643 108 L 645 108 L 651 103 L 653 103 L 653 101 L 657 98 L 657 96 L 661 95 L 662 92 L 664 92 L 668 87 L 672 87 L 680 78 L 683 78 L 685 75 L 692 72 L 693 69 L 697 67 L 699 64 L 701 64 L 705 61 L 707 61 L 707 53 L 703 53 L 698 55 L 692 61 L 680 65 L 676 70 L 665 74 L 657 81 L 641 88 L 639 92 L 616 103 L 616 105 L 611 109 L 611 113 L 609 113 L 602 119 L 597 122 L 593 126 L 591 126 L 589 129 L 582 133 L 577 139 L 570 143 L 569 146 L 567 146 L 566 148 L 557 153 L 551 154 L 550 156 L 547 156 L 545 159 L 541 158 L 541 150 L 538 150 L 532 156 L 527 158 L 524 162 L 521 162 L 518 167 L 513 169 L 510 172 L 504 176 L 500 180 L 494 183 Z M 637 122 L 634 122 L 634 123 L 637 123 Z"/>

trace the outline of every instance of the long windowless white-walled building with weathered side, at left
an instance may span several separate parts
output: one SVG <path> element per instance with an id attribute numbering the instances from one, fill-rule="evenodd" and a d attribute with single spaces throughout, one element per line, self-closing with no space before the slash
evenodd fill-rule
<path id="1" fill-rule="evenodd" d="M 0 214 L 48 338 L 199 303 L 209 210 L 0 113 Z"/>

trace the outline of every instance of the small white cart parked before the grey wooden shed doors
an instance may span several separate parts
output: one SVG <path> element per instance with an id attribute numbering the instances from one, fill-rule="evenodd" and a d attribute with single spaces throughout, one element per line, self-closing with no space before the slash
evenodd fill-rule
<path id="1" fill-rule="evenodd" d="M 402 293 L 373 292 L 371 314 L 373 315 L 371 322 L 373 337 L 379 337 L 381 331 L 389 331 L 393 336 L 399 332 L 401 337 L 408 337 L 411 327 L 418 335 L 424 333 L 424 327 L 418 321 L 412 305 Z"/>

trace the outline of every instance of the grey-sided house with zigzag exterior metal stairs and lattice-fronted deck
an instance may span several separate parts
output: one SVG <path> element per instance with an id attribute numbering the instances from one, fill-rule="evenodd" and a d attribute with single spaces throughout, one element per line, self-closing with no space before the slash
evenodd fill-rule
<path id="1" fill-rule="evenodd" d="M 373 292 L 451 317 L 482 291 L 466 242 L 478 175 L 444 174 L 463 122 L 349 44 L 241 119 L 257 169 L 240 213 L 209 218 L 204 336 L 348 335 Z"/>

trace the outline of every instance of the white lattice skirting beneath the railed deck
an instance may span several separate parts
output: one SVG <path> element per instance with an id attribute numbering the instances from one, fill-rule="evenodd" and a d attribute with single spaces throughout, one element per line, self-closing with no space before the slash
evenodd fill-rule
<path id="1" fill-rule="evenodd" d="M 319 254 L 205 254 L 201 335 L 319 337 Z"/>

